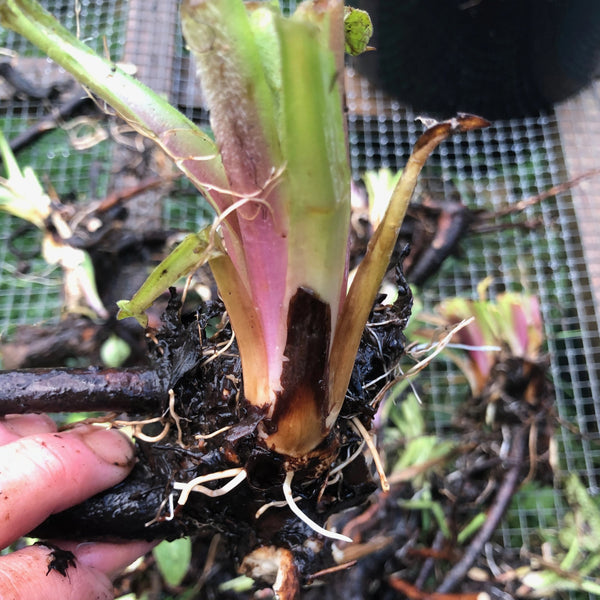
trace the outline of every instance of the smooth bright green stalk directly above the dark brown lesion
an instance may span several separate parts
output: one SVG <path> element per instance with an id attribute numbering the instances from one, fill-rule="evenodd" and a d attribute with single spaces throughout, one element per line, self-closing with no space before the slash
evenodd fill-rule
<path id="1" fill-rule="evenodd" d="M 335 324 L 346 287 L 350 169 L 329 13 L 316 25 L 281 20 L 283 111 L 290 206 L 288 288 L 314 290 Z M 340 24 L 341 25 L 341 24 Z"/>

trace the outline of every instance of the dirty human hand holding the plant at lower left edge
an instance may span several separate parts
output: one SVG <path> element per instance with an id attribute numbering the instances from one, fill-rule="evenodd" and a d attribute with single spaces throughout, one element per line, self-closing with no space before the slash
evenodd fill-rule
<path id="1" fill-rule="evenodd" d="M 44 415 L 0 419 L 0 548 L 49 515 L 116 485 L 133 462 L 131 444 L 115 430 L 85 425 L 59 433 Z M 152 547 L 52 543 L 0 557 L 0 598 L 112 600 L 111 577 Z"/>

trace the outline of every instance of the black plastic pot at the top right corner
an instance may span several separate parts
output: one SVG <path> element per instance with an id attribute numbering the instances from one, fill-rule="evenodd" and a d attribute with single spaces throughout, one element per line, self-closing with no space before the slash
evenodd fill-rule
<path id="1" fill-rule="evenodd" d="M 598 0 L 357 0 L 375 52 L 356 60 L 378 87 L 434 116 L 538 114 L 600 71 Z"/>

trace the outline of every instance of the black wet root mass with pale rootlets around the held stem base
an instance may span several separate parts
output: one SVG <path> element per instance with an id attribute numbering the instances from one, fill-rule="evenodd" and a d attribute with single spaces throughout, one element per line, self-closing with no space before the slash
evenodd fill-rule
<path id="1" fill-rule="evenodd" d="M 399 294 L 395 304 L 377 304 L 371 313 L 370 322 L 379 325 L 365 330 L 336 426 L 302 464 L 290 464 L 293 459 L 286 460 L 260 443 L 257 426 L 265 415 L 243 401 L 237 348 L 235 342 L 227 346 L 231 329 L 228 324 L 219 328 L 224 317 L 222 304 L 208 303 L 181 318 L 180 302 L 173 292 L 153 355 L 157 372 L 166 379 L 163 385 L 173 390 L 174 403 L 169 409 L 166 398 L 157 414 L 130 415 L 138 421 L 164 416 L 161 422 L 144 428 L 144 437 L 153 441 L 138 439 L 138 463 L 122 484 L 52 516 L 34 534 L 88 540 L 174 539 L 213 531 L 223 534 L 236 561 L 254 548 L 276 546 L 292 550 L 300 574 L 331 564 L 330 553 L 321 552 L 323 537 L 285 504 L 283 483 L 286 473 L 294 470 L 293 496 L 301 510 L 321 525 L 329 515 L 361 504 L 375 489 L 364 453 L 356 452 L 363 440 L 352 420 L 360 419 L 370 427 L 378 392 L 391 377 L 385 374 L 404 352 L 402 331 L 412 296 L 399 267 L 396 280 Z M 310 294 L 301 296 L 299 310 L 314 305 Z M 319 307 L 313 308 L 310 319 L 322 320 Z M 215 327 L 217 332 L 209 337 Z M 324 360 L 325 348 L 308 341 L 305 350 Z M 318 387 L 310 376 L 312 368 L 307 367 L 304 381 Z M 373 381 L 378 383 L 365 385 Z M 295 383 L 303 385 L 298 380 Z M 277 427 L 276 415 L 267 426 Z M 332 477 L 336 466 L 346 462 Z M 177 484 L 232 469 L 243 469 L 247 477 L 228 493 L 212 497 L 192 491 L 183 506 L 177 505 Z M 223 485 L 223 480 L 205 484 L 212 489 Z M 306 544 L 311 537 L 316 543 Z"/>

